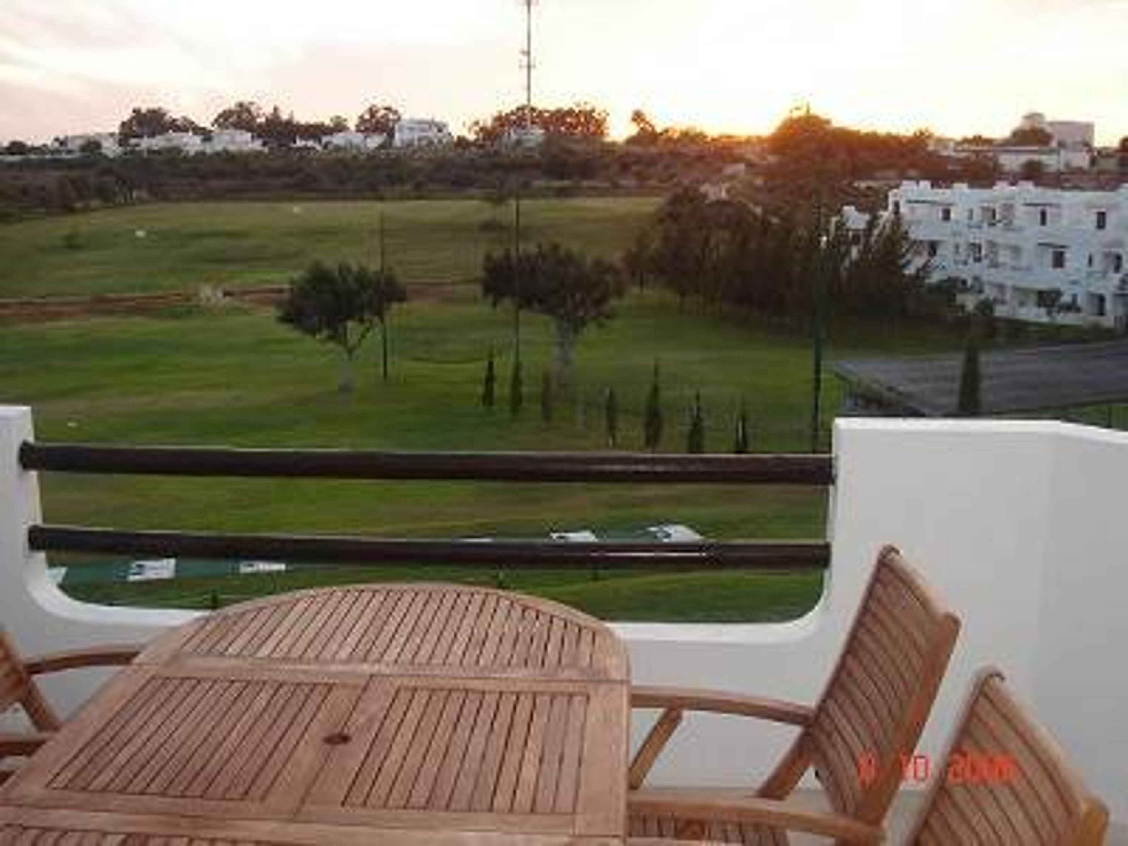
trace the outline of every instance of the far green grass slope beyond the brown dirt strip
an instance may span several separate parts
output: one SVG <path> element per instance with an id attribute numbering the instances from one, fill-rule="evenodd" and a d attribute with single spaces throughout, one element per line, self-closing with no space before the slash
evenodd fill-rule
<path id="1" fill-rule="evenodd" d="M 529 200 L 523 237 L 617 255 L 658 202 Z M 512 204 L 481 200 L 138 205 L 0 226 L 0 297 L 284 282 L 315 258 L 376 264 L 381 213 L 406 281 L 473 279 L 512 238 Z"/>

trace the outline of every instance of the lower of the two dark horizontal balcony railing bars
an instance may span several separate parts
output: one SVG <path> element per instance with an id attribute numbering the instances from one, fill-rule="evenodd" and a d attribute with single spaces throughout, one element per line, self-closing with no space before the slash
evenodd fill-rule
<path id="1" fill-rule="evenodd" d="M 571 543 L 559 540 L 422 540 L 309 535 L 220 535 L 33 526 L 37 552 L 265 559 L 305 564 L 428 564 L 505 567 L 784 570 L 825 569 L 826 541 Z"/>

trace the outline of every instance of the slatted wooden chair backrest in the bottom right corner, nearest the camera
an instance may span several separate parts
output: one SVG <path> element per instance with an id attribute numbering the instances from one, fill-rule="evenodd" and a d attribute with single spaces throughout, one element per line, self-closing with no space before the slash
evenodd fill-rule
<path id="1" fill-rule="evenodd" d="M 998 670 L 976 679 L 909 844 L 1101 846 L 1108 811 Z"/>

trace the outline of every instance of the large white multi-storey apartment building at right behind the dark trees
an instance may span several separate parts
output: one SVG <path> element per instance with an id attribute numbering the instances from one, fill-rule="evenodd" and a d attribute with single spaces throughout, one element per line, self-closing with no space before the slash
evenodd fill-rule
<path id="1" fill-rule="evenodd" d="M 959 280 L 964 305 L 1037 323 L 1128 328 L 1128 185 L 1063 191 L 1032 183 L 993 188 L 905 182 L 889 192 L 929 281 Z M 852 230 L 866 215 L 844 210 Z"/>

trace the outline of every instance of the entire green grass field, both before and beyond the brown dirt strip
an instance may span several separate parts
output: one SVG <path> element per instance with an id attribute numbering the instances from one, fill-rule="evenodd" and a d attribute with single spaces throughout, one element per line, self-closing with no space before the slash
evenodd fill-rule
<path id="1" fill-rule="evenodd" d="M 408 279 L 472 275 L 483 249 L 477 201 L 389 203 L 389 245 Z M 530 203 L 532 236 L 614 254 L 651 201 Z M 0 227 L 0 291 L 78 293 L 184 288 L 285 274 L 305 262 L 359 257 L 372 241 L 377 204 L 206 204 L 146 206 Z M 499 215 L 503 211 L 497 212 Z M 146 239 L 132 232 L 144 227 Z M 63 244 L 77 231 L 80 247 Z M 227 235 L 221 235 L 221 233 Z M 89 261 L 85 261 L 89 259 Z M 20 272 L 20 267 L 27 272 Z M 133 318 L 6 326 L 0 332 L 0 402 L 35 408 L 37 435 L 104 443 L 354 447 L 435 450 L 605 449 L 601 397 L 618 396 L 620 447 L 638 449 L 642 407 L 660 361 L 666 411 L 662 448 L 685 447 L 688 407 L 703 396 L 706 447 L 728 451 L 735 409 L 747 403 L 758 451 L 809 444 L 810 342 L 804 327 L 778 327 L 689 309 L 633 292 L 618 316 L 580 343 L 574 385 L 555 417 L 540 420 L 540 371 L 549 327 L 525 319 L 526 408 L 505 411 L 511 314 L 493 310 L 473 285 L 443 300 L 397 310 L 393 378 L 380 384 L 378 344 L 358 390 L 336 390 L 332 347 L 297 335 L 267 310 L 185 308 Z M 942 327 L 844 326 L 830 356 L 959 349 Z M 499 355 L 499 407 L 481 407 L 487 350 Z M 826 420 L 840 400 L 828 378 Z M 829 424 L 828 424 L 829 425 Z M 825 442 L 828 433 L 823 432 Z M 821 537 L 826 492 L 700 486 L 501 485 L 468 483 L 255 482 L 43 477 L 50 522 L 120 528 L 372 534 L 400 537 L 545 537 L 553 530 L 637 529 L 685 522 L 711 538 Z M 81 559 L 60 556 L 55 563 Z M 487 569 L 428 571 L 430 578 L 495 583 Z M 596 578 L 598 575 L 598 578 Z M 614 619 L 732 620 L 794 617 L 821 590 L 817 573 L 521 573 L 504 584 L 544 593 Z M 267 590 L 341 579 L 418 578 L 397 567 L 91 585 L 105 601 L 202 607 Z"/>

